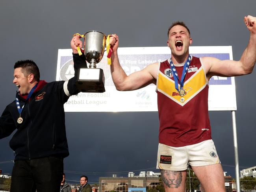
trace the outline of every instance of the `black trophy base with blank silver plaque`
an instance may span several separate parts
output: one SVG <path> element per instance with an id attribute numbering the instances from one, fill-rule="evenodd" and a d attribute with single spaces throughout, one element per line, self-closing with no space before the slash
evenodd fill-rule
<path id="1" fill-rule="evenodd" d="M 105 92 L 105 77 L 101 68 L 80 68 L 76 87 L 80 92 Z"/>

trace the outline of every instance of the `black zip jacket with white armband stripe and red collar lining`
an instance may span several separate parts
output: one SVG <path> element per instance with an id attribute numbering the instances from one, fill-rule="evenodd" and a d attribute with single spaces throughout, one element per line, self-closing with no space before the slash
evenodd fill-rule
<path id="1" fill-rule="evenodd" d="M 22 110 L 23 122 L 21 124 L 17 123 L 19 112 L 15 101 L 7 105 L 4 110 L 0 117 L 0 138 L 9 136 L 17 129 L 9 143 L 15 151 L 15 160 L 69 155 L 63 104 L 67 102 L 70 95 L 78 93 L 75 85 L 78 67 L 87 67 L 84 56 L 73 54 L 73 60 L 75 76 L 69 79 L 68 83 L 54 81 L 45 84 L 39 81 L 39 90 L 36 89 L 33 92 L 30 101 Z M 69 96 L 63 87 L 67 88 Z M 25 100 L 18 97 L 22 107 Z"/>

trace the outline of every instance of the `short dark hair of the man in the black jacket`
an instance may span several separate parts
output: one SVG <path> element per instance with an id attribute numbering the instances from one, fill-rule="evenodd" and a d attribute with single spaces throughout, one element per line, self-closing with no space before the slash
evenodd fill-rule
<path id="1" fill-rule="evenodd" d="M 28 76 L 33 74 L 36 81 L 40 80 L 40 72 L 38 66 L 33 60 L 19 60 L 15 63 L 14 68 L 21 67 L 21 72 Z"/>

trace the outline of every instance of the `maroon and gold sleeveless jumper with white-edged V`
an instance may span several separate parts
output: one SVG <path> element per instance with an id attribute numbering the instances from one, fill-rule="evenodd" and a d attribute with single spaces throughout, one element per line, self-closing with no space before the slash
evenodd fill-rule
<path id="1" fill-rule="evenodd" d="M 183 66 L 175 66 L 179 79 Z M 179 96 L 168 60 L 160 63 L 156 92 L 160 120 L 159 142 L 182 147 L 211 139 L 208 81 L 200 59 L 192 57 L 184 79 L 186 95 Z"/>

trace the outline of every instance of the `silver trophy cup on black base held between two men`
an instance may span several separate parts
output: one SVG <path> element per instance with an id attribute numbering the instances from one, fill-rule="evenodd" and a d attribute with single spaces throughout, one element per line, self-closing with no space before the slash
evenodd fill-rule
<path id="1" fill-rule="evenodd" d="M 78 69 L 76 86 L 81 92 L 105 92 L 105 77 L 101 68 L 96 68 L 104 55 L 106 35 L 99 31 L 88 31 L 83 35 L 84 55 L 89 68 Z"/>

